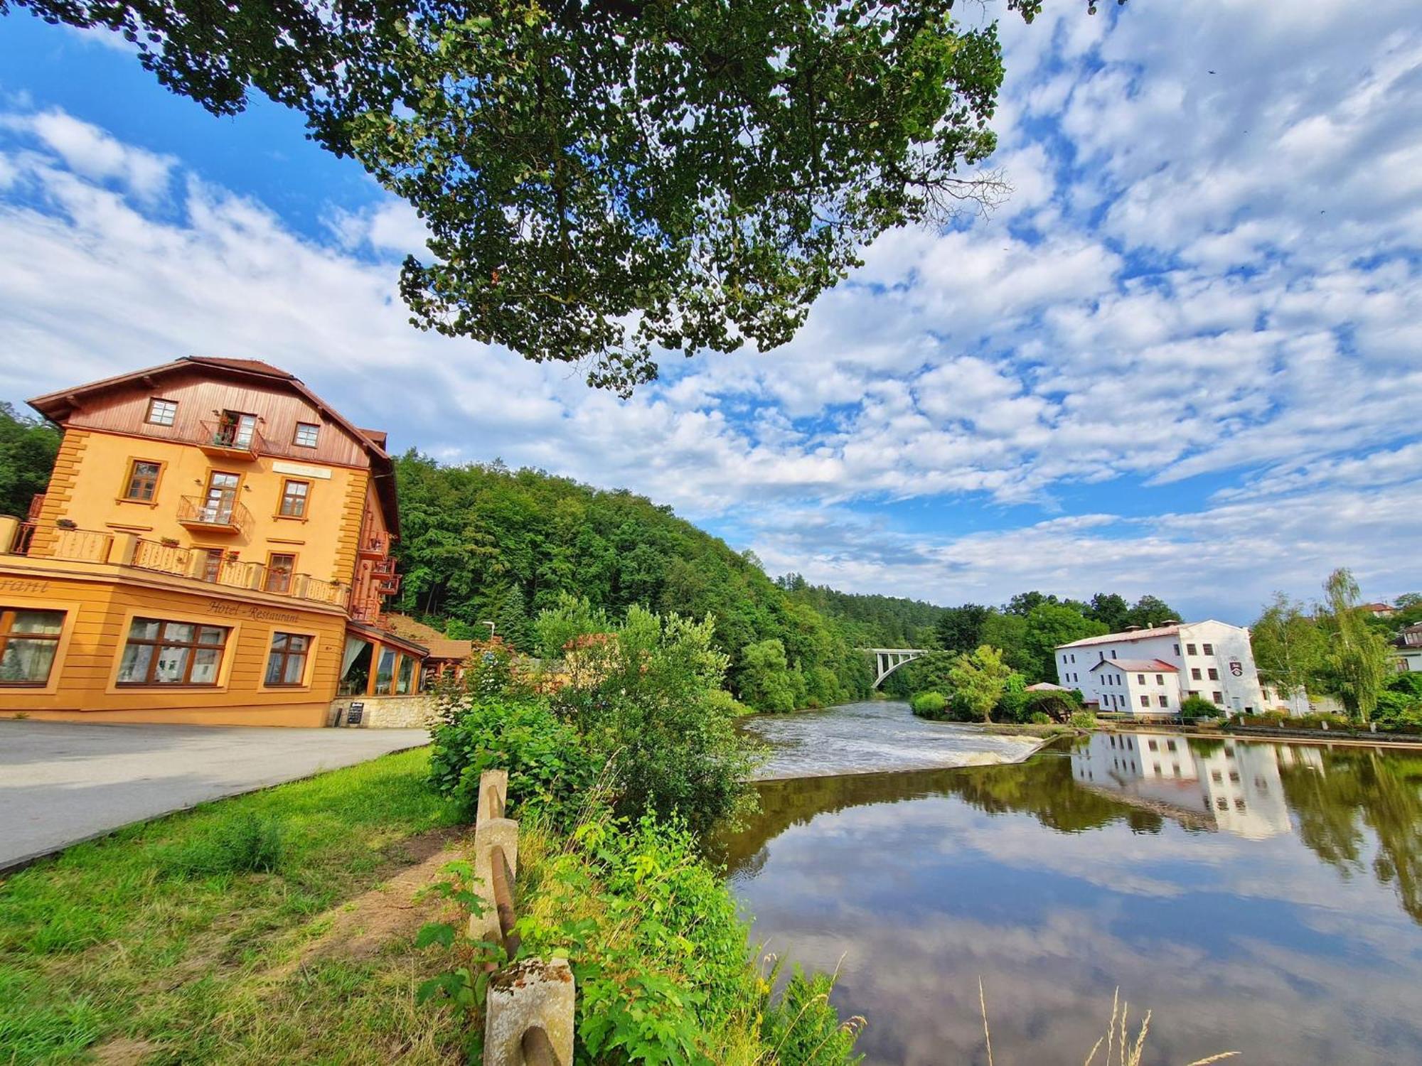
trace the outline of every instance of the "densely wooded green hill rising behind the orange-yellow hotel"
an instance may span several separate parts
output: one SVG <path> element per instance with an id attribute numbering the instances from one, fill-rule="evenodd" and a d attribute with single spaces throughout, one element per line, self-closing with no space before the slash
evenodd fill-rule
<path id="1" fill-rule="evenodd" d="M 533 615 L 565 593 L 614 617 L 631 604 L 710 614 L 735 694 L 758 709 L 788 711 L 867 695 L 870 661 L 855 645 L 906 632 L 904 624 L 880 631 L 873 611 L 848 607 L 852 597 L 795 580 L 781 587 L 754 556 L 630 492 L 502 463 L 442 466 L 417 452 L 395 470 L 397 607 L 445 623 L 451 635 L 478 635 L 488 620 L 532 651 Z"/>

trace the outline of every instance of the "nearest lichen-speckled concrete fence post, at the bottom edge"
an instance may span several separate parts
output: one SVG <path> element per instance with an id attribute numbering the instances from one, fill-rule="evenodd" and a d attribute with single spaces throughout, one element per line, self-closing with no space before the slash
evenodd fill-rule
<path id="1" fill-rule="evenodd" d="M 540 1026 L 559 1066 L 573 1063 L 573 971 L 567 959 L 516 962 L 489 982 L 483 1066 L 523 1066 L 523 1033 Z"/>

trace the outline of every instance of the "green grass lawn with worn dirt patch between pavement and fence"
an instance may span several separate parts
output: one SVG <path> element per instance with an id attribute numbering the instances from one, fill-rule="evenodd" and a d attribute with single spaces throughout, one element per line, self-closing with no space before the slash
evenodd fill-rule
<path id="1" fill-rule="evenodd" d="M 428 750 L 203 804 L 0 881 L 0 1063 L 459 1060 L 412 905 L 456 850 Z M 280 858 L 223 871 L 243 830 Z M 260 841 L 256 844 L 262 850 Z"/>

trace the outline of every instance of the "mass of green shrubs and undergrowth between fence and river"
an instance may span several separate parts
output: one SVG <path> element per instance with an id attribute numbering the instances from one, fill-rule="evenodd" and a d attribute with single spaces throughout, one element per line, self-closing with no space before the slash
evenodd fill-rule
<path id="1" fill-rule="evenodd" d="M 701 841 L 754 804 L 758 756 L 721 698 L 711 623 L 633 608 L 582 641 L 559 685 L 491 652 L 445 692 L 431 783 L 474 816 L 479 776 L 509 772 L 520 820 L 520 957 L 566 955 L 577 981 L 580 1062 L 842 1063 L 826 976 L 798 969 L 781 995 Z M 552 688 L 552 691 L 546 691 Z M 451 924 L 458 930 L 458 924 Z M 486 945 L 456 938 L 449 974 Z M 466 1033 L 478 1053 L 478 986 Z"/>

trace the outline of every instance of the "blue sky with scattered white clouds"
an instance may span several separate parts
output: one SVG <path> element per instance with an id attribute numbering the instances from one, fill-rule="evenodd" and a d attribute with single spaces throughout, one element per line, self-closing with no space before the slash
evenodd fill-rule
<path id="1" fill-rule="evenodd" d="M 1422 587 L 1415 4 L 1058 3 L 1003 23 L 1005 205 L 904 229 L 772 352 L 631 401 L 421 334 L 421 226 L 256 104 L 0 18 L 0 398 L 264 358 L 397 449 L 626 486 L 771 573 L 1249 621 L 1334 566 Z M 991 9 L 990 9 L 991 10 Z"/>

